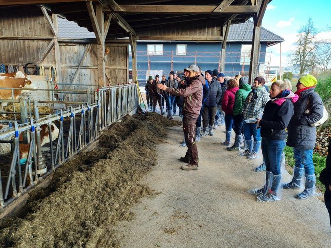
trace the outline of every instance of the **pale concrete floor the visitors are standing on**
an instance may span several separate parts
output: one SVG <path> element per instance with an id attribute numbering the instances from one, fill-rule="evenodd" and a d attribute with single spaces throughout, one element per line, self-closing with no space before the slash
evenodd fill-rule
<path id="1" fill-rule="evenodd" d="M 329 216 L 319 198 L 297 200 L 297 190 L 284 190 L 281 201 L 257 203 L 247 193 L 264 183 L 265 172 L 253 171 L 261 158 L 226 151 L 224 130 L 198 142 L 199 170 L 187 172 L 179 169 L 186 152 L 179 147 L 182 128 L 169 128 L 157 146 L 158 164 L 141 182 L 160 194 L 143 198 L 131 209 L 133 220 L 117 225 L 121 247 L 331 247 Z"/>

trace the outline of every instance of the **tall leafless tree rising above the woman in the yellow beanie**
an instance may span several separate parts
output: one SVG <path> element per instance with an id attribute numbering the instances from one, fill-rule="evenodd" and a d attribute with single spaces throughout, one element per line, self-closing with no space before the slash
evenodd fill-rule
<path id="1" fill-rule="evenodd" d="M 300 75 L 312 69 L 312 65 L 315 66 L 314 50 L 316 48 L 315 38 L 317 33 L 312 18 L 308 18 L 307 24 L 299 30 L 295 43 L 296 50 L 291 54 L 290 59 L 294 66 L 300 68 Z"/>

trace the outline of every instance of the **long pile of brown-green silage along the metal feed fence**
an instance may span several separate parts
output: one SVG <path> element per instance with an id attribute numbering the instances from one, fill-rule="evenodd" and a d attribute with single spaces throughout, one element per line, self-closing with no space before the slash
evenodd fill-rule
<path id="1" fill-rule="evenodd" d="M 30 194 L 21 216 L 2 220 L 3 247 L 118 247 L 113 225 L 137 199 L 153 194 L 139 180 L 156 163 L 166 127 L 158 114 L 126 116 L 103 132 L 99 147 L 63 164 L 45 190 Z"/>

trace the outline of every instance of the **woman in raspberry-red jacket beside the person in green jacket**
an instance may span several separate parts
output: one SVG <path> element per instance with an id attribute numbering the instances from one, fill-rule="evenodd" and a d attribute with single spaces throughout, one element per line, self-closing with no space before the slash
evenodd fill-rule
<path id="1" fill-rule="evenodd" d="M 234 79 L 230 79 L 222 100 L 222 110 L 225 112 L 226 127 L 226 140 L 222 144 L 226 146 L 230 145 L 233 124 L 233 106 L 235 104 L 235 94 L 237 90 L 239 90 L 239 83 Z"/>

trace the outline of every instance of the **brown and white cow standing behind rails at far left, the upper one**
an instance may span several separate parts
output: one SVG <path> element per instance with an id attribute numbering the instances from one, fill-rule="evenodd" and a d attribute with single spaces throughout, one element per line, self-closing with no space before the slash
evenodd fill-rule
<path id="1" fill-rule="evenodd" d="M 21 71 L 14 73 L 0 73 L 0 88 L 24 88 L 26 85 L 30 85 L 31 80 L 28 76 L 23 74 Z M 22 92 L 21 89 L 15 89 L 14 99 L 18 99 L 18 96 Z M 0 99 L 12 99 L 12 91 L 10 89 L 0 90 Z M 7 103 L 0 103 L 0 111 L 7 106 Z"/>

